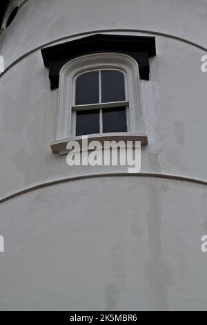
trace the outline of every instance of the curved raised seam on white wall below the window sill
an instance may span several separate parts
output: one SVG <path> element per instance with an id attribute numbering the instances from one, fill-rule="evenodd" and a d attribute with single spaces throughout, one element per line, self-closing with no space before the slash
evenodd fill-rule
<path id="1" fill-rule="evenodd" d="M 39 185 L 34 185 L 32 187 L 28 187 L 27 189 L 23 189 L 19 192 L 10 194 L 9 196 L 6 196 L 5 198 L 0 199 L 0 204 L 6 201 L 11 200 L 12 198 L 16 198 L 17 196 L 21 196 L 26 193 L 33 192 L 37 189 L 42 189 L 44 187 L 50 187 L 57 184 L 67 183 L 67 182 L 73 182 L 75 180 L 84 180 L 89 178 L 107 178 L 107 177 L 152 177 L 152 178 L 162 178 L 162 179 L 172 179 L 172 180 L 180 180 L 188 183 L 196 183 L 199 185 L 207 185 L 206 180 L 199 180 L 196 178 L 188 178 L 184 176 L 175 176 L 175 175 L 168 175 L 168 174 L 153 174 L 153 173 L 108 173 L 108 174 L 91 174 L 91 175 L 81 175 L 81 176 L 73 176 L 70 178 L 61 178 L 59 180 L 52 180 L 50 182 L 42 183 Z"/>

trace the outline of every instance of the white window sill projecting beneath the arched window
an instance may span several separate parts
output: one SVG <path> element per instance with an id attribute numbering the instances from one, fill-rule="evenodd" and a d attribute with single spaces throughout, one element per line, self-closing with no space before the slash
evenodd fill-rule
<path id="1" fill-rule="evenodd" d="M 148 145 L 148 137 L 144 133 L 104 133 L 104 134 L 90 134 L 88 136 L 88 143 L 92 141 L 100 141 L 102 144 L 104 141 L 140 141 L 141 145 Z M 50 146 L 52 149 L 52 154 L 59 154 L 60 156 L 65 156 L 68 154 L 68 150 L 66 150 L 67 144 L 70 141 L 77 141 L 81 144 L 82 137 L 75 136 L 68 139 L 58 140 L 52 142 Z"/>

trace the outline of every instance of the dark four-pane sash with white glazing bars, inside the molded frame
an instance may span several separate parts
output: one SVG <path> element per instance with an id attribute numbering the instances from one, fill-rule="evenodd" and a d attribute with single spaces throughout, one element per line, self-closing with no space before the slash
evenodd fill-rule
<path id="1" fill-rule="evenodd" d="M 124 73 L 97 70 L 75 78 L 76 136 L 93 133 L 127 132 L 126 87 Z"/>

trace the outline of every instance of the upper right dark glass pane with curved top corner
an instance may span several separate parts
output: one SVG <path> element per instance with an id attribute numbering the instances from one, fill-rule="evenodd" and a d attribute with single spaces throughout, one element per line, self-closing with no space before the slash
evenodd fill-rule
<path id="1" fill-rule="evenodd" d="M 120 71 L 101 71 L 101 90 L 101 102 L 124 101 L 124 74 Z"/>

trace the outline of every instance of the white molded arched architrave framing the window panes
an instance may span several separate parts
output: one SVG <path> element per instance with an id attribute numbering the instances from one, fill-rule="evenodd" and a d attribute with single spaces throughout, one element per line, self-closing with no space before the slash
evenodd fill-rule
<path id="1" fill-rule="evenodd" d="M 129 55 L 121 53 L 96 53 L 77 57 L 61 68 L 56 140 L 74 136 L 72 133 L 72 100 L 75 77 L 79 73 L 100 68 L 112 68 L 124 72 L 126 75 L 126 95 L 129 102 L 130 132 L 144 133 L 137 62 Z"/>

